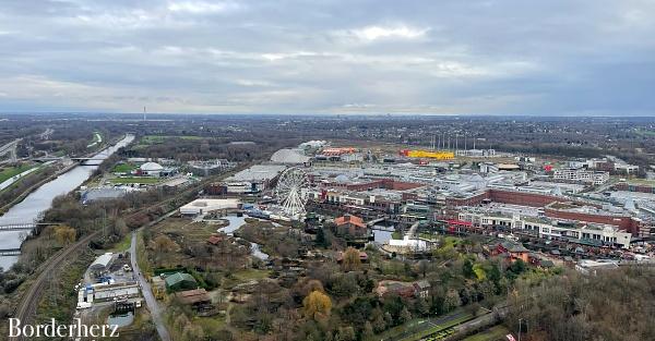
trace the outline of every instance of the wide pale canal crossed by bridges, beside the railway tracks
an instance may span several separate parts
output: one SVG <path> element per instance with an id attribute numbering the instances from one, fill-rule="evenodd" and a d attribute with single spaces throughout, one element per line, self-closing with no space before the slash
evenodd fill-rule
<path id="1" fill-rule="evenodd" d="M 106 159 L 116 150 L 127 146 L 134 141 L 134 135 L 127 134 L 116 145 L 108 147 L 96 154 L 94 159 Z M 31 223 L 38 219 L 39 215 L 50 208 L 52 199 L 59 195 L 67 194 L 83 184 L 93 172 L 98 168 L 102 161 L 93 161 L 93 165 L 78 166 L 70 171 L 57 176 L 57 179 L 44 184 L 32 192 L 25 199 L 10 208 L 0 217 L 0 226 L 11 223 Z M 25 238 L 25 231 L 4 231 L 0 232 L 0 248 L 17 248 Z M 19 257 L 0 257 L 0 267 L 8 269 Z"/>

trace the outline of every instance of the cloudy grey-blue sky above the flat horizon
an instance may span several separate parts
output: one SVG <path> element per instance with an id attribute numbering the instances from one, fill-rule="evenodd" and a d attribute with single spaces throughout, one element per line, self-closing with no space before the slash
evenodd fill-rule
<path id="1" fill-rule="evenodd" d="M 0 112 L 143 106 L 655 115 L 655 1 L 0 1 Z"/>

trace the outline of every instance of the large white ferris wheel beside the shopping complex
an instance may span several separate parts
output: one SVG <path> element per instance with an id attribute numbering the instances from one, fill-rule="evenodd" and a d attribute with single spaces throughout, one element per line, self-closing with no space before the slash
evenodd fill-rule
<path id="1" fill-rule="evenodd" d="M 298 167 L 287 168 L 279 175 L 275 187 L 275 196 L 286 215 L 296 217 L 305 214 L 307 188 L 309 188 L 309 179 L 305 171 Z"/>

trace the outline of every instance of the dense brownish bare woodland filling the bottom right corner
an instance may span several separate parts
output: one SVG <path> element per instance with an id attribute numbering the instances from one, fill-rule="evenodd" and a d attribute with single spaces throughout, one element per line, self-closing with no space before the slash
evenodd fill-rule
<path id="1" fill-rule="evenodd" d="M 655 340 L 653 288 L 655 269 L 643 267 L 519 280 L 507 322 L 528 341 Z"/>

